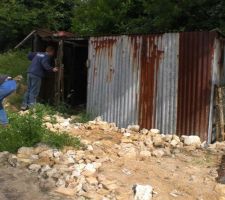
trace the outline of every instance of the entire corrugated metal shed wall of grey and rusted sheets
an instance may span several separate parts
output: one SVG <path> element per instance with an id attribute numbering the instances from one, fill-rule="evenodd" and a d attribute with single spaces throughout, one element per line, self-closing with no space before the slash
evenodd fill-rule
<path id="1" fill-rule="evenodd" d="M 120 127 L 140 124 L 164 134 L 211 140 L 213 84 L 224 81 L 225 67 L 218 62 L 218 54 L 224 54 L 218 36 L 189 32 L 90 38 L 88 112 Z"/>

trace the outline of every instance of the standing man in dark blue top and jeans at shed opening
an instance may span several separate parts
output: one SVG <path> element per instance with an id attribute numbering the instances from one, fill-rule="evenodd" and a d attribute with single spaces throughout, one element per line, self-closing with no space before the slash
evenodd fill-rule
<path id="1" fill-rule="evenodd" d="M 36 103 L 41 88 L 41 79 L 45 76 L 45 73 L 58 71 L 57 67 L 51 66 L 51 58 L 54 54 L 55 49 L 51 46 L 48 46 L 45 52 L 28 54 L 28 59 L 32 62 L 27 71 L 27 92 L 24 95 L 21 110 L 26 110 Z"/>

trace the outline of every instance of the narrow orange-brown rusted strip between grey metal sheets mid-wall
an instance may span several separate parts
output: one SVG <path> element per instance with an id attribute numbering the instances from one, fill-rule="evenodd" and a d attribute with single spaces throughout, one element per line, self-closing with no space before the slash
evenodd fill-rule
<path id="1" fill-rule="evenodd" d="M 141 84 L 139 124 L 142 128 L 152 128 L 154 123 L 155 73 L 157 73 L 163 51 L 157 41 L 161 35 L 143 36 L 141 49 Z"/>

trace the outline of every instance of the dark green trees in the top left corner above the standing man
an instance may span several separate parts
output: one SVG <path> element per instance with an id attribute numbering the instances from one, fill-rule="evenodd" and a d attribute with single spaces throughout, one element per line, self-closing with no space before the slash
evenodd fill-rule
<path id="1" fill-rule="evenodd" d="M 69 30 L 74 0 L 1 0 L 1 49 L 12 47 L 35 28 Z"/>

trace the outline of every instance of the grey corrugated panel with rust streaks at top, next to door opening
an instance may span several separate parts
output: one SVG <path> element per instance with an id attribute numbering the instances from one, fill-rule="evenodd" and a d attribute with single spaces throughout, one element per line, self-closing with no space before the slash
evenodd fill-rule
<path id="1" fill-rule="evenodd" d="M 140 37 L 90 38 L 87 111 L 120 127 L 138 123 Z"/>

